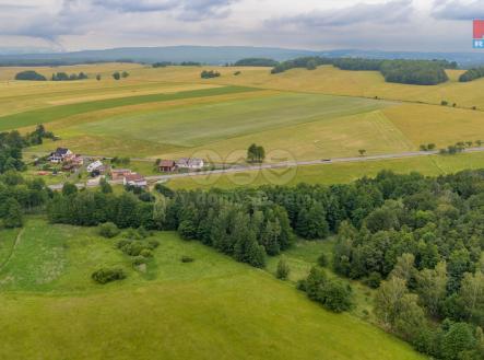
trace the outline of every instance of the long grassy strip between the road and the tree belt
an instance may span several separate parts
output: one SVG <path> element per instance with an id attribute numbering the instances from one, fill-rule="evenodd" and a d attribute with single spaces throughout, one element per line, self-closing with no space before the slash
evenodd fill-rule
<path id="1" fill-rule="evenodd" d="M 484 153 L 457 155 L 429 155 L 396 160 L 378 160 L 327 165 L 308 165 L 296 169 L 262 170 L 234 174 L 212 174 L 170 179 L 172 188 L 233 188 L 263 184 L 297 185 L 351 183 L 364 176 L 373 177 L 380 171 L 390 170 L 399 174 L 418 172 L 428 176 L 451 174 L 468 169 L 484 169 Z"/>

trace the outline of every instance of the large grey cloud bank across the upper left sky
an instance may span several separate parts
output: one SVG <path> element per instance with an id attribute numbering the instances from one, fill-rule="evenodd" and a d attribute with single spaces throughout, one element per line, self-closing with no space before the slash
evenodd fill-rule
<path id="1" fill-rule="evenodd" d="M 63 0 L 57 12 L 34 8 L 0 13 L 0 33 L 57 43 L 60 36 L 83 35 L 107 26 L 107 23 L 122 21 L 122 16 L 128 14 L 147 19 L 150 13 L 156 16 L 160 12 L 181 22 L 224 18 L 227 7 L 235 1 L 239 0 Z M 142 31 L 146 26 L 141 21 L 135 27 Z"/>

